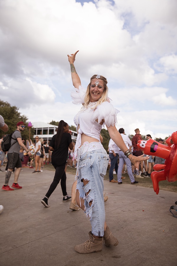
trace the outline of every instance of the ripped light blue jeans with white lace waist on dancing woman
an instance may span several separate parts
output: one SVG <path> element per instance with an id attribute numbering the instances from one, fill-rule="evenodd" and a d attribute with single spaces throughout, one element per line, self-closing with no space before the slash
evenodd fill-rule
<path id="1" fill-rule="evenodd" d="M 109 158 L 101 142 L 84 142 L 78 148 L 77 189 L 84 200 L 85 213 L 90 218 L 92 234 L 104 236 L 104 175 Z M 89 181 L 84 186 L 83 181 Z M 91 202 L 91 206 L 89 203 Z"/>

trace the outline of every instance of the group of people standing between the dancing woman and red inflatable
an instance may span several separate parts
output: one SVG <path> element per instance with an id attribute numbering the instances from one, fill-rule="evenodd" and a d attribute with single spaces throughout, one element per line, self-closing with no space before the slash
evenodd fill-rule
<path id="1" fill-rule="evenodd" d="M 132 154 L 135 156 L 140 156 L 143 154 L 143 151 L 137 147 L 137 143 L 139 140 L 142 140 L 140 130 L 137 128 L 135 129 L 135 135 L 132 138 L 132 141 L 130 138 L 125 134 L 125 131 L 123 128 L 119 129 L 119 133 L 122 135 L 122 138 L 125 142 L 125 145 L 129 150 L 132 151 Z M 146 140 L 152 139 L 150 134 L 146 135 Z M 167 145 L 165 140 L 159 138 L 159 143 L 162 143 L 164 145 Z M 127 173 L 131 184 L 137 184 L 138 181 L 135 180 L 135 178 L 144 178 L 144 177 L 150 177 L 150 174 L 152 173 L 153 166 L 155 164 L 164 164 L 165 159 L 152 156 L 152 155 L 146 155 L 144 154 L 144 157 L 149 156 L 150 158 L 148 160 L 140 161 L 137 163 L 137 169 L 130 163 L 130 160 L 126 159 L 126 156 L 122 153 L 122 151 L 119 149 L 119 147 L 110 139 L 109 141 L 109 160 L 110 160 L 110 168 L 109 168 L 109 181 L 122 184 L 122 179 L 124 179 L 124 176 L 122 174 Z M 126 171 L 124 171 L 126 169 Z M 117 180 L 113 179 L 113 173 L 116 173 Z"/>

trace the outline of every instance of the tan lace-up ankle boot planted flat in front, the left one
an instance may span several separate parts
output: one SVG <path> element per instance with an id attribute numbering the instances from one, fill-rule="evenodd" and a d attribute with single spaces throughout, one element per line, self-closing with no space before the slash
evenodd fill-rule
<path id="1" fill-rule="evenodd" d="M 89 239 L 86 242 L 74 247 L 75 251 L 81 254 L 100 252 L 102 248 L 103 248 L 103 237 L 94 238 L 91 231 L 89 232 Z"/>

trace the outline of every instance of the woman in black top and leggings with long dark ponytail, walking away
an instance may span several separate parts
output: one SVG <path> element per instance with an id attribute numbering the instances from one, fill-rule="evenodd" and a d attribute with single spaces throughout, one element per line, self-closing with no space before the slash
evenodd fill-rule
<path id="1" fill-rule="evenodd" d="M 45 207 L 49 207 L 48 199 L 50 195 L 53 193 L 55 188 L 61 179 L 61 189 L 63 192 L 63 201 L 67 201 L 71 199 L 66 192 L 66 173 L 65 166 L 66 160 L 68 157 L 68 147 L 70 150 L 73 149 L 73 142 L 71 139 L 71 134 L 69 132 L 69 126 L 66 122 L 61 120 L 58 124 L 57 134 L 52 137 L 52 140 L 49 144 L 49 150 L 52 151 L 52 164 L 55 168 L 55 176 L 52 184 L 50 185 L 49 190 L 47 191 L 43 200 L 41 200 L 42 204 Z"/>

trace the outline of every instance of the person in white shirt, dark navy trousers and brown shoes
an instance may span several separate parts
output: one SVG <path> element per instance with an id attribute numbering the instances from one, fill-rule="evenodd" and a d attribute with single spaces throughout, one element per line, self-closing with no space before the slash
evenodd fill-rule
<path id="1" fill-rule="evenodd" d="M 118 170 L 117 160 L 120 149 L 112 139 L 109 140 L 108 149 L 109 149 L 109 159 L 111 160 L 111 166 L 109 168 L 109 182 L 117 183 L 118 181 L 113 179 L 113 171 L 115 169 L 117 174 Z"/>

